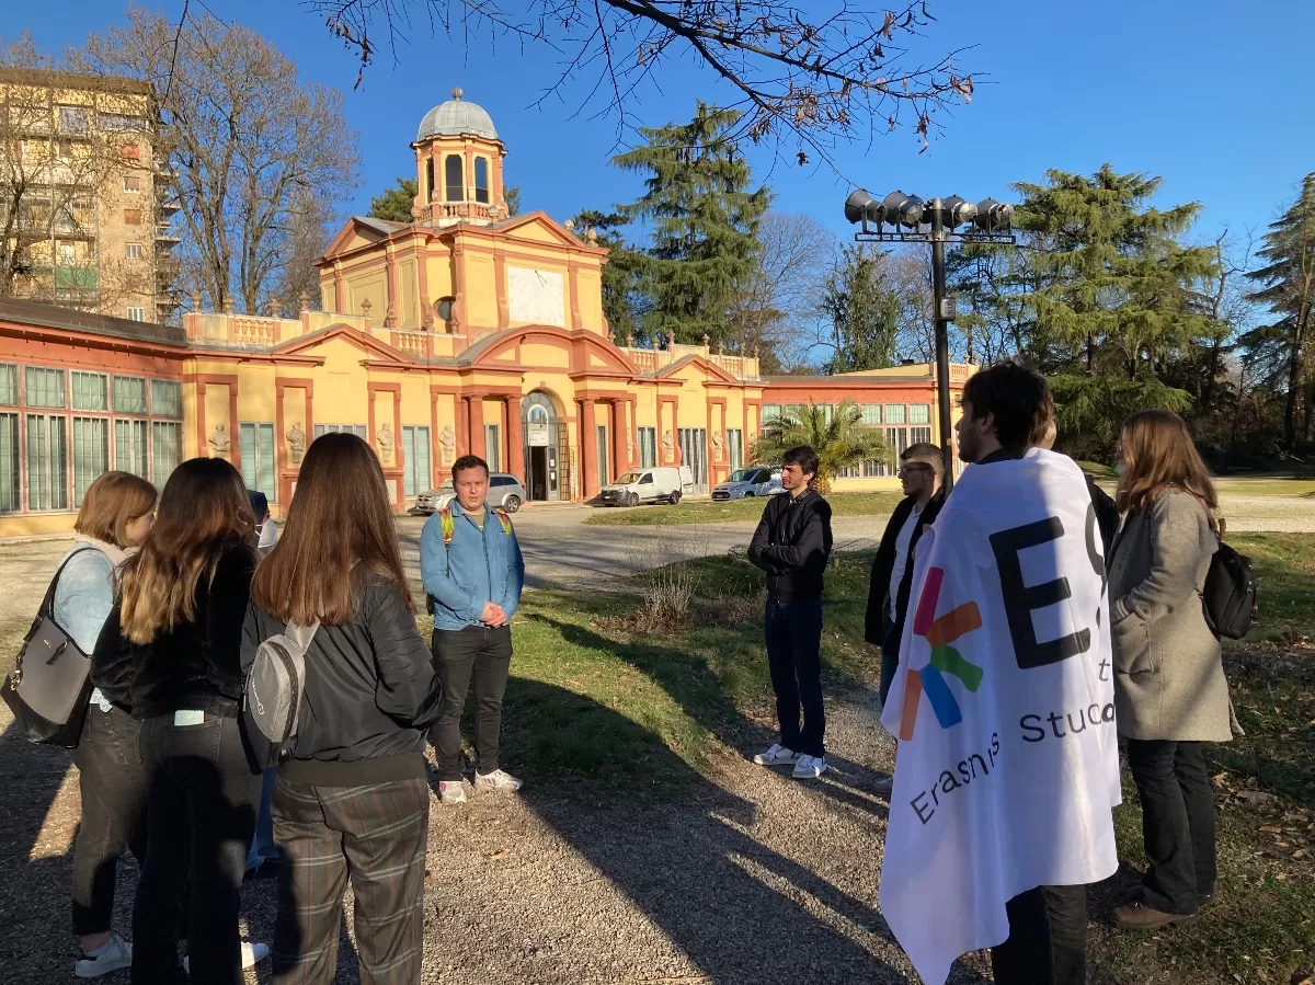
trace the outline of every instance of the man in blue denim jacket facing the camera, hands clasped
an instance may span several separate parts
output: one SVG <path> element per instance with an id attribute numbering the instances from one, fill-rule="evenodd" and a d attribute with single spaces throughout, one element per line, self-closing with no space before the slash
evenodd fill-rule
<path id="1" fill-rule="evenodd" d="M 456 498 L 431 516 L 419 537 L 419 573 L 434 610 L 434 668 L 443 709 L 429 740 L 438 755 L 443 804 L 464 804 L 462 710 L 475 675 L 475 789 L 521 789 L 498 767 L 502 694 L 512 667 L 512 617 L 521 604 L 525 559 L 510 518 L 484 502 L 489 467 L 476 455 L 452 464 Z"/>

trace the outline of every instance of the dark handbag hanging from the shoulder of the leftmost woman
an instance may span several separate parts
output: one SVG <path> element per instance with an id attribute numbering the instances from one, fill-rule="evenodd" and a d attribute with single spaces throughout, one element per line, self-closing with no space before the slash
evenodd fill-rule
<path id="1" fill-rule="evenodd" d="M 0 688 L 0 698 L 13 711 L 14 725 L 28 742 L 66 750 L 75 748 L 82 738 L 92 692 L 91 656 L 78 648 L 54 618 L 55 587 L 72 558 L 68 555 L 50 580 L 37 618 L 22 639 L 18 663 Z"/>

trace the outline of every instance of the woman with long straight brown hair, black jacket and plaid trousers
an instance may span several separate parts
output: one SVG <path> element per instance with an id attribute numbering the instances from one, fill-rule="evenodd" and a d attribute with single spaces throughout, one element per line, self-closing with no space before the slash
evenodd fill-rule
<path id="1" fill-rule="evenodd" d="M 422 752 L 442 692 L 416 629 L 383 469 L 352 434 L 325 434 L 306 451 L 283 535 L 251 584 L 243 665 L 288 623 L 318 629 L 296 751 L 274 789 L 274 980 L 334 980 L 350 875 L 362 982 L 419 981 Z"/>

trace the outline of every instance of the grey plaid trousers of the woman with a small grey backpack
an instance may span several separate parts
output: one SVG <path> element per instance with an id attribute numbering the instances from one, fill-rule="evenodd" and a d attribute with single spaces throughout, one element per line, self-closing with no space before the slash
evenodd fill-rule
<path id="1" fill-rule="evenodd" d="M 362 985 L 416 985 L 425 931 L 429 786 L 274 788 L 279 848 L 275 985 L 330 985 L 338 974 L 342 896 L 351 876 Z"/>

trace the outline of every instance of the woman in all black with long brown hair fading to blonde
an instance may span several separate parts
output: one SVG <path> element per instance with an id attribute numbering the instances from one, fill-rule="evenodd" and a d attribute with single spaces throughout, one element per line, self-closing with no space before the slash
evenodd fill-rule
<path id="1" fill-rule="evenodd" d="M 239 730 L 242 621 L 255 552 L 242 477 L 189 459 L 160 494 L 155 527 L 122 569 L 92 683 L 142 723 L 146 864 L 133 909 L 134 985 L 188 981 L 178 911 L 189 900 L 191 981 L 238 985 L 250 963 L 238 902 L 260 779 Z"/>

